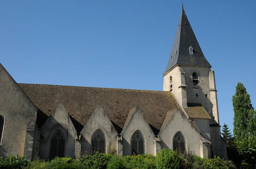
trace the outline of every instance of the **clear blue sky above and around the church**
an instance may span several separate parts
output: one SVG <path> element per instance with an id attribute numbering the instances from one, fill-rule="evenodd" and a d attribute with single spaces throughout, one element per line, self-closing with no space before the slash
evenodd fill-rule
<path id="1" fill-rule="evenodd" d="M 183 4 L 233 129 L 237 82 L 256 107 L 256 1 Z M 180 0 L 1 1 L 0 62 L 19 83 L 163 90 L 180 12 Z"/>

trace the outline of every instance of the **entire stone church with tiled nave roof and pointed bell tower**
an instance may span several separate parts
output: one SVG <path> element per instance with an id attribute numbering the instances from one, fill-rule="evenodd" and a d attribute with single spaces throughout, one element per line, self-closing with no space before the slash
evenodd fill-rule
<path id="1" fill-rule="evenodd" d="M 16 83 L 0 64 L 0 156 L 160 149 L 226 156 L 214 71 L 182 7 L 163 91 Z"/>

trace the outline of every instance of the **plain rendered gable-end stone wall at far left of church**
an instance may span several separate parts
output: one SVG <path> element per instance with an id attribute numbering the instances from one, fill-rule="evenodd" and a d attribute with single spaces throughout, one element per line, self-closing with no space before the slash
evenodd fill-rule
<path id="1" fill-rule="evenodd" d="M 0 156 L 21 155 L 28 118 L 34 118 L 37 107 L 0 64 L 0 115 L 4 118 Z"/>

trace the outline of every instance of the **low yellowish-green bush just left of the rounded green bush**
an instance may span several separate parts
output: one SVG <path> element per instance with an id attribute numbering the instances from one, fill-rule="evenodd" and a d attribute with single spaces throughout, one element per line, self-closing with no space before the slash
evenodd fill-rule
<path id="1" fill-rule="evenodd" d="M 155 169 L 155 157 L 153 155 L 124 156 L 123 159 L 130 169 Z"/>

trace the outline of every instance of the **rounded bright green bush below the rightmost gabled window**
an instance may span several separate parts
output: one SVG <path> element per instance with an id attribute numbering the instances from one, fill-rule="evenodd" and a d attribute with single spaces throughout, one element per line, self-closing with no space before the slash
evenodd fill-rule
<path id="1" fill-rule="evenodd" d="M 155 165 L 157 169 L 179 169 L 181 167 L 181 159 L 176 151 L 162 149 L 157 153 Z"/>

